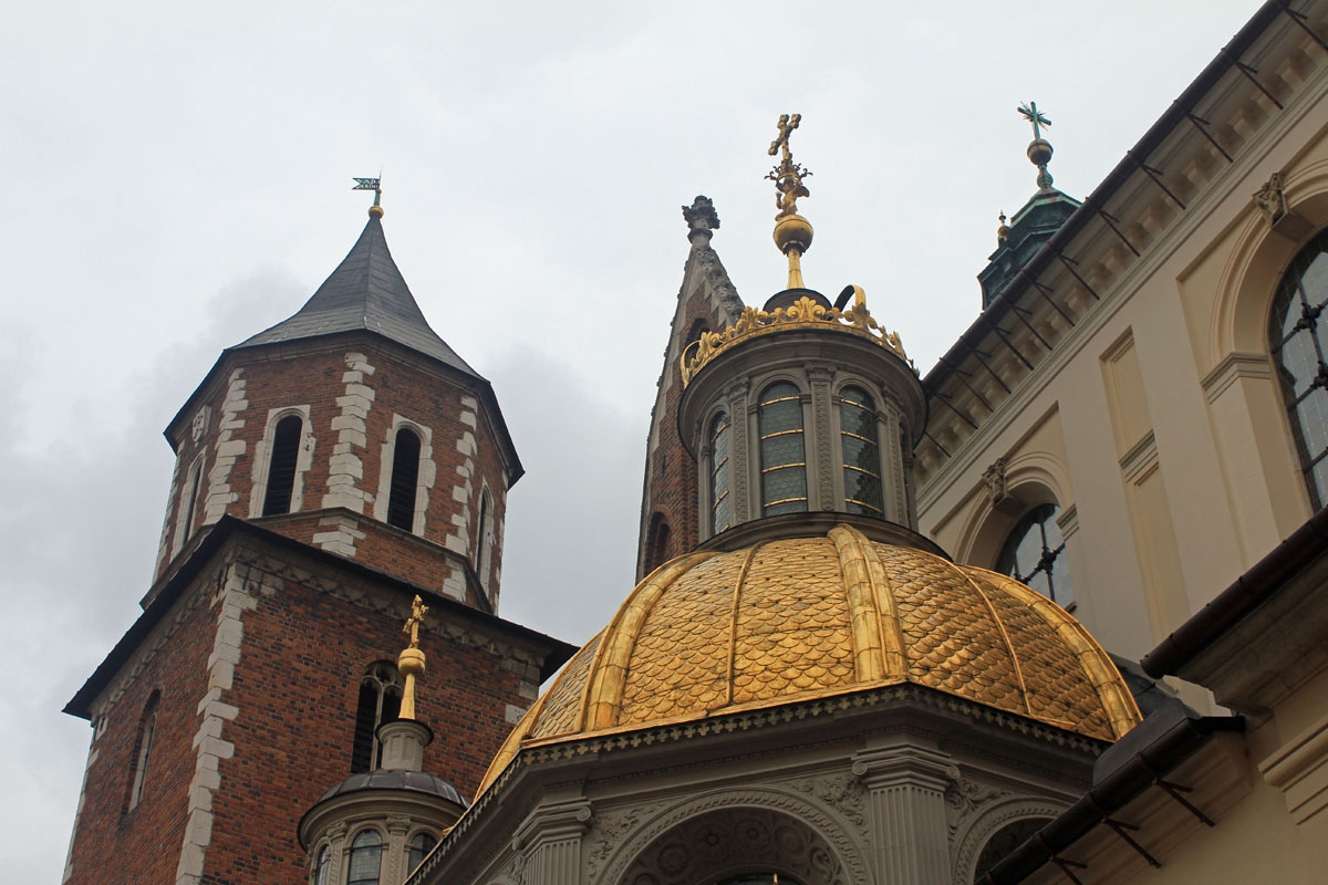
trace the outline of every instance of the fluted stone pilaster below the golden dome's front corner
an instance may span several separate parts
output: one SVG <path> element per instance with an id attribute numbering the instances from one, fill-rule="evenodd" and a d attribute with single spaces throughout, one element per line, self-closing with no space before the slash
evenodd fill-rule
<path id="1" fill-rule="evenodd" d="M 878 881 L 950 882 L 946 787 L 959 776 L 950 756 L 900 744 L 857 754 L 853 771 L 867 787 Z"/>

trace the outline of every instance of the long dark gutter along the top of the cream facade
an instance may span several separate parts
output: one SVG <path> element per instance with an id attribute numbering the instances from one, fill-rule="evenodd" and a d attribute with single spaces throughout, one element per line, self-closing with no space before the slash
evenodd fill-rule
<path id="1" fill-rule="evenodd" d="M 1011 309 L 1015 300 L 1028 289 L 1029 284 L 1037 279 L 1037 276 L 1050 264 L 1052 259 L 1065 249 L 1070 244 L 1085 224 L 1097 216 L 1098 208 L 1105 208 L 1106 202 L 1116 195 L 1116 192 L 1130 179 L 1138 170 L 1138 161 L 1146 161 L 1149 154 L 1151 154 L 1171 131 L 1186 119 L 1186 114 L 1193 110 L 1199 101 L 1207 96 L 1223 74 L 1227 73 L 1232 66 L 1235 66 L 1240 54 L 1248 49 L 1255 40 L 1263 36 L 1263 32 L 1271 25 L 1280 13 L 1287 11 L 1289 13 L 1291 3 L 1289 0 L 1266 0 L 1266 3 L 1259 7 L 1259 11 L 1244 24 L 1240 31 L 1227 42 L 1226 46 L 1218 50 L 1218 54 L 1207 64 L 1207 66 L 1199 72 L 1199 76 L 1186 86 L 1185 92 L 1171 102 L 1171 105 L 1162 111 L 1143 137 L 1125 153 L 1121 162 L 1106 174 L 1106 178 L 1093 188 L 1084 202 L 1080 204 L 1074 214 L 1065 219 L 1060 230 L 1052 235 L 1042 248 L 1038 249 L 1028 263 L 1011 277 L 1009 283 L 1001 287 L 1001 291 L 996 293 L 992 303 L 977 314 L 973 322 L 967 330 L 959 337 L 950 350 L 946 352 L 936 365 L 932 366 L 931 372 L 922 379 L 923 391 L 931 395 L 932 391 L 938 390 L 946 378 L 950 377 L 951 370 L 946 364 L 957 362 L 968 350 L 977 344 L 979 338 L 991 330 L 991 326 L 996 325 L 999 321 L 996 313 L 992 308 L 1001 308 L 1001 316 L 1004 312 Z"/>

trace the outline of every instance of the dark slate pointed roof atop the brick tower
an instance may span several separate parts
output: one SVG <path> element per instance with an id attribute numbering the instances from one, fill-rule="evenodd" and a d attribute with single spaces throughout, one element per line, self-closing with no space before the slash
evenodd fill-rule
<path id="1" fill-rule="evenodd" d="M 365 329 L 479 378 L 479 373 L 429 328 L 392 260 L 381 216 L 381 210 L 371 210 L 369 223 L 351 252 L 295 316 L 242 341 L 232 350 Z"/>

